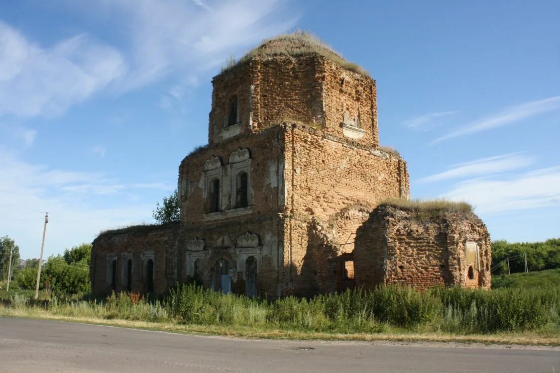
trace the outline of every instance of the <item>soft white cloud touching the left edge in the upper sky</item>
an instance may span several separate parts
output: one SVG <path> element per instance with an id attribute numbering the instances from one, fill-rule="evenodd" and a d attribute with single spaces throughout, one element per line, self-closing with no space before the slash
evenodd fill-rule
<path id="1" fill-rule="evenodd" d="M 54 116 L 125 72 L 118 50 L 87 35 L 41 48 L 0 22 L 0 116 Z"/>

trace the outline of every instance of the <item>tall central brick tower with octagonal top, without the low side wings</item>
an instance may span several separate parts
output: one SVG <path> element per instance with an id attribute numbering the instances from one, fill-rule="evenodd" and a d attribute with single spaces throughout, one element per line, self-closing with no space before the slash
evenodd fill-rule
<path id="1" fill-rule="evenodd" d="M 409 195 L 406 163 L 379 147 L 375 81 L 296 33 L 212 83 L 208 147 L 179 167 L 167 282 L 269 298 L 352 286 L 358 226 Z"/>

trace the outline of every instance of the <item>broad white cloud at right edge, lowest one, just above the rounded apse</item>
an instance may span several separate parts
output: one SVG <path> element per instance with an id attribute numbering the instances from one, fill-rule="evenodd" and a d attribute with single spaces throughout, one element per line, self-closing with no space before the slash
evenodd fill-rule
<path id="1" fill-rule="evenodd" d="M 442 197 L 464 200 L 477 213 L 499 214 L 560 205 L 560 166 L 510 176 L 479 178 L 459 183 Z"/>

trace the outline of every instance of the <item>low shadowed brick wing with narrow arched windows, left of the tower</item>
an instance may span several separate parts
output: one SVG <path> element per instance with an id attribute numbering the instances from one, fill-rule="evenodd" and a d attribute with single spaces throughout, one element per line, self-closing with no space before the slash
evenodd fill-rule
<path id="1" fill-rule="evenodd" d="M 142 229 L 143 228 L 143 229 Z M 130 229 L 128 233 L 105 233 L 94 240 L 91 251 L 91 282 L 94 295 L 108 295 L 113 291 L 110 283 L 110 261 L 116 259 L 116 292 L 127 289 L 127 261 L 132 259 L 132 291 L 147 292 L 146 261 L 153 258 L 153 286 L 156 294 L 167 290 L 171 276 L 167 271 L 168 251 L 175 247 L 179 224 L 148 226 Z M 153 254 L 153 256 L 151 255 Z"/>

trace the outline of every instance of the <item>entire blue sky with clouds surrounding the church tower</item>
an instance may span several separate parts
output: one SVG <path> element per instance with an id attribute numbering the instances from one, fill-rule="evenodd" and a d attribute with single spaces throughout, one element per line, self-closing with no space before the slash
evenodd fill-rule
<path id="1" fill-rule="evenodd" d="M 377 81 L 413 198 L 467 200 L 493 239 L 560 237 L 557 1 L 0 2 L 0 235 L 37 257 L 152 222 L 207 142 L 211 78 L 313 32 Z"/>

